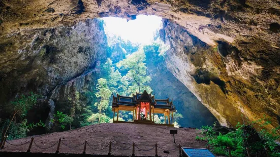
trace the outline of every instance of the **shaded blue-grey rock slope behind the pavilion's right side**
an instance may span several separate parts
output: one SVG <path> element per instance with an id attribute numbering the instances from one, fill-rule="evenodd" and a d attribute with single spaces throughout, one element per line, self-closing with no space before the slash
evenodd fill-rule
<path id="1" fill-rule="evenodd" d="M 167 68 L 164 56 L 157 47 L 149 47 L 146 55 L 147 74 L 151 77 L 150 87 L 157 99 L 172 100 L 177 112 L 183 115 L 178 120 L 181 127 L 210 126 L 217 122 L 213 114 L 189 91 Z"/>

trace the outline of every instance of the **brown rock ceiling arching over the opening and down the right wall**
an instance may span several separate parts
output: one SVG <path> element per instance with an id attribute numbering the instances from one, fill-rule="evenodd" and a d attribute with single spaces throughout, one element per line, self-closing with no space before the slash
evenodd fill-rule
<path id="1" fill-rule="evenodd" d="M 3 0 L 2 87 L 11 73 L 28 71 L 17 67 L 27 65 L 36 55 L 35 51 L 21 51 L 37 40 L 36 32 L 50 33 L 50 28 L 74 26 L 97 17 L 134 19 L 139 14 L 165 19 L 160 33 L 162 40 L 171 45 L 168 68 L 222 125 L 235 126 L 242 121 L 241 115 L 255 120 L 263 114 L 272 118 L 268 129 L 279 125 L 279 0 Z M 69 81 L 71 74 L 63 76 L 64 81 Z M 7 87 L 15 86 L 10 84 Z M 2 96 L 2 100 L 7 101 L 7 97 Z"/>

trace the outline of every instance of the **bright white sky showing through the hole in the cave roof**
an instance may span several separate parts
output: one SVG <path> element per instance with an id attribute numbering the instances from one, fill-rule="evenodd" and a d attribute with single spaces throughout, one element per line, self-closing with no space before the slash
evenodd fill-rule
<path id="1" fill-rule="evenodd" d="M 120 36 L 123 40 L 135 44 L 149 45 L 153 41 L 155 30 L 162 28 L 162 18 L 138 15 L 135 20 L 105 17 L 105 33 Z"/>

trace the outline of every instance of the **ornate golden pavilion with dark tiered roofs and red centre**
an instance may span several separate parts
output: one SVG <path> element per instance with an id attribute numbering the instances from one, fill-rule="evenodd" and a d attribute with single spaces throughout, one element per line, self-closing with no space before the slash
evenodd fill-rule
<path id="1" fill-rule="evenodd" d="M 164 114 L 165 125 L 174 127 L 173 112 L 175 112 L 175 107 L 172 101 L 168 99 L 154 99 L 154 96 L 148 94 L 146 90 L 142 94 L 133 94 L 132 97 L 120 96 L 117 94 L 115 97 L 113 95 L 112 102 L 113 123 L 144 123 L 144 124 L 154 124 L 154 114 L 161 113 Z M 132 122 L 118 121 L 119 111 L 132 111 L 133 120 Z M 117 112 L 117 117 L 115 120 L 115 113 Z"/>

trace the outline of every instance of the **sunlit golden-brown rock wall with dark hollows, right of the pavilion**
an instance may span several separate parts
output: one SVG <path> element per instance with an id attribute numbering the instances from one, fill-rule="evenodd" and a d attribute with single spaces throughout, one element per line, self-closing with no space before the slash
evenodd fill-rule
<path id="1" fill-rule="evenodd" d="M 248 59 L 225 42 L 211 48 L 183 27 L 169 20 L 163 23 L 161 37 L 171 46 L 166 54 L 168 68 L 221 125 L 234 127 L 243 121 L 241 115 L 254 121 L 264 114 L 272 117 L 268 128 L 278 125 L 278 76 L 267 69 L 269 65 Z M 270 77 L 264 71 L 274 74 Z"/>

